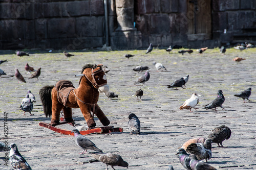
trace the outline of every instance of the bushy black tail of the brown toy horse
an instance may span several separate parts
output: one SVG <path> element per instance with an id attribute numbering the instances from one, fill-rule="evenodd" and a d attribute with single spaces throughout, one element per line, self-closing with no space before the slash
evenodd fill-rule
<path id="1" fill-rule="evenodd" d="M 44 112 L 46 117 L 51 117 L 52 115 L 52 89 L 53 85 L 51 86 L 44 86 L 40 89 L 39 95 L 42 102 L 42 106 L 44 107 Z"/>

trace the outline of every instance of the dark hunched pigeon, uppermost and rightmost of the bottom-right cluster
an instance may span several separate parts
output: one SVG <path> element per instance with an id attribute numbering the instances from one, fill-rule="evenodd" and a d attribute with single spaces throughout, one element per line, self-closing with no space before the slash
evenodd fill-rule
<path id="1" fill-rule="evenodd" d="M 215 128 L 208 136 L 209 139 L 212 140 L 214 143 L 218 143 L 218 147 L 223 147 L 222 142 L 225 139 L 229 139 L 231 136 L 231 130 L 225 126 L 222 125 L 220 127 Z"/>

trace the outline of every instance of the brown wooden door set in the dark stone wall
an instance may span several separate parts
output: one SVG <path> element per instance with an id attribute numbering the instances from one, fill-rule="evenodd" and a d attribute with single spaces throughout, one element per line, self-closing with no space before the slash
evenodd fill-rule
<path id="1" fill-rule="evenodd" d="M 211 39 L 211 13 L 211 0 L 187 0 L 188 40 Z"/>

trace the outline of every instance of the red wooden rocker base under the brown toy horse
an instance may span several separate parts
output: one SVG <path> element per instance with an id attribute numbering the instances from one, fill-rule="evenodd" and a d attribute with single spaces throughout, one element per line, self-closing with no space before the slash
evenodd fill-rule
<path id="1" fill-rule="evenodd" d="M 63 118 L 61 117 L 60 120 L 63 120 Z M 63 125 L 63 124 L 70 124 L 71 126 L 73 126 L 74 122 L 72 123 L 68 123 L 68 122 L 60 122 L 59 125 Z M 48 128 L 54 132 L 58 132 L 64 135 L 74 135 L 74 133 L 71 133 L 70 130 L 66 130 L 66 129 L 60 129 L 54 126 L 51 126 L 47 123 L 44 122 L 39 122 L 38 124 L 40 127 L 45 127 Z M 103 127 L 95 127 L 95 128 L 88 128 L 85 131 L 79 131 L 82 135 L 88 135 L 88 134 L 92 134 L 92 133 L 111 133 L 111 132 L 123 132 L 123 128 L 114 128 L 114 126 L 103 126 Z"/>

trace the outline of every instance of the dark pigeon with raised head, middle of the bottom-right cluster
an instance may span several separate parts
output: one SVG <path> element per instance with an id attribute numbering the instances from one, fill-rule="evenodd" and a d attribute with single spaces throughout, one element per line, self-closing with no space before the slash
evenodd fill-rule
<path id="1" fill-rule="evenodd" d="M 194 154 L 199 160 L 211 158 L 211 139 L 205 139 L 204 143 L 191 143 L 187 146 L 186 152 Z"/>

